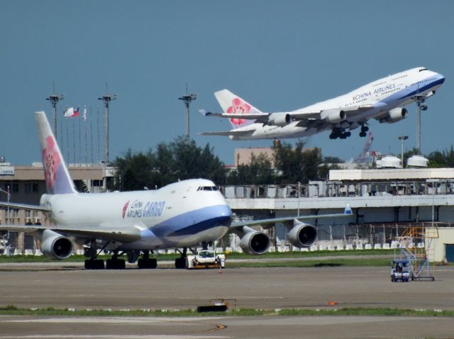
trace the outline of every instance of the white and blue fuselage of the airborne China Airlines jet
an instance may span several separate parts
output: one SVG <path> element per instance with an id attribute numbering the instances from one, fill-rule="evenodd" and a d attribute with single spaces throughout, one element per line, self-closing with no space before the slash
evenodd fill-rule
<path id="1" fill-rule="evenodd" d="M 422 70 L 422 71 L 421 71 Z M 314 111 L 326 111 L 331 109 L 345 109 L 356 106 L 370 106 L 369 109 L 348 116 L 345 121 L 337 124 L 325 123 L 314 126 L 301 126 L 299 121 L 292 121 L 287 126 L 272 126 L 263 123 L 252 123 L 248 126 L 236 128 L 236 130 L 251 130 L 250 135 L 231 136 L 232 140 L 254 140 L 269 138 L 300 138 L 314 135 L 323 130 L 331 130 L 333 127 L 354 129 L 363 125 L 370 118 L 377 118 L 395 109 L 403 107 L 415 101 L 414 96 L 428 96 L 435 92 L 444 82 L 441 74 L 430 70 L 414 68 L 396 73 L 365 84 L 347 94 L 333 99 L 321 101 L 302 109 L 283 113 L 312 113 Z"/>

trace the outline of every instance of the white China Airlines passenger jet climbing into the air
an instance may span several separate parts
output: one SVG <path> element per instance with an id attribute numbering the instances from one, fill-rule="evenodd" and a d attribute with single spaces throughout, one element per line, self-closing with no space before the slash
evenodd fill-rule
<path id="1" fill-rule="evenodd" d="M 423 67 L 406 70 L 370 82 L 348 94 L 321 101 L 289 112 L 262 113 L 227 89 L 214 95 L 223 113 L 201 110 L 205 116 L 228 118 L 232 130 L 204 132 L 199 135 L 227 135 L 232 140 L 300 138 L 331 130 L 331 139 L 345 139 L 350 130 L 360 127 L 365 137 L 371 118 L 380 123 L 395 123 L 408 116 L 404 106 L 418 103 L 435 94 L 445 77 Z"/>

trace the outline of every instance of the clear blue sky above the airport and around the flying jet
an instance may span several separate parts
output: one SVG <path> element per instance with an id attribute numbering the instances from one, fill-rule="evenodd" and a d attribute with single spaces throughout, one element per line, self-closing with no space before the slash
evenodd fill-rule
<path id="1" fill-rule="evenodd" d="M 111 104 L 111 159 L 183 135 L 184 106 L 177 98 L 188 83 L 199 95 L 191 106 L 192 137 L 233 164 L 235 148 L 268 147 L 272 140 L 197 136 L 231 127 L 198 113 L 220 111 L 214 91 L 230 89 L 262 111 L 286 111 L 419 66 L 446 78 L 421 118 L 422 152 L 444 150 L 454 143 L 453 13 L 448 0 L 0 1 L 0 155 L 14 165 L 40 160 L 33 112 L 50 117 L 45 98 L 54 80 L 56 92 L 65 94 L 60 114 L 79 104 L 96 113 L 106 82 L 118 94 Z M 416 145 L 416 105 L 407 109 L 404 121 L 370 123 L 373 150 L 399 154 L 399 135 L 409 135 L 406 148 Z M 86 130 L 89 123 L 82 124 L 82 154 Z M 71 147 L 73 133 L 69 125 Z M 347 160 L 362 150 L 358 133 L 304 140 L 323 155 Z M 66 140 L 62 148 L 66 153 Z"/>

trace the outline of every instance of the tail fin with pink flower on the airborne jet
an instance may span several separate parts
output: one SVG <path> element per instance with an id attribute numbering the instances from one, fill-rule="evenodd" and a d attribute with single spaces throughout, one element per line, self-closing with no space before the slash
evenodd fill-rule
<path id="1" fill-rule="evenodd" d="M 228 89 L 216 91 L 214 93 L 214 96 L 216 96 L 216 100 L 218 101 L 223 111 L 226 113 L 262 113 L 251 104 L 248 104 L 247 101 L 233 94 Z M 251 123 L 255 122 L 255 120 L 247 120 L 241 118 L 230 118 L 229 120 L 233 128 L 248 126 Z"/>

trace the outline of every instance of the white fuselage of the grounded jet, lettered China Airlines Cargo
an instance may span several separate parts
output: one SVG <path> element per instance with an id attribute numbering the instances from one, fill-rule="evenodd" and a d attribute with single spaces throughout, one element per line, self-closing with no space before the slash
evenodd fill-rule
<path id="1" fill-rule="evenodd" d="M 181 248 L 217 240 L 228 231 L 231 209 L 213 182 L 190 179 L 155 191 L 45 194 L 43 206 L 61 229 L 140 233 L 119 250 Z M 70 233 L 70 232 L 69 232 Z"/>

